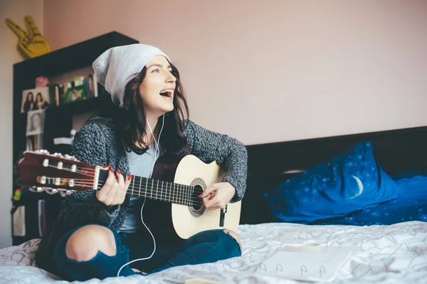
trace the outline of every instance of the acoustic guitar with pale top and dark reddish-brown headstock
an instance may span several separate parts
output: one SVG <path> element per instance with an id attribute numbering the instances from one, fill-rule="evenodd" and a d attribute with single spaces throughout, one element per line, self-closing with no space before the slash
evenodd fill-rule
<path id="1" fill-rule="evenodd" d="M 50 194 L 60 192 L 63 196 L 100 190 L 109 170 L 46 150 L 23 152 L 17 168 L 21 187 Z M 154 165 L 152 178 L 132 175 L 127 195 L 145 198 L 144 212 L 151 212 L 144 213 L 147 224 L 158 236 L 174 231 L 179 238 L 188 239 L 209 229 L 237 232 L 241 201 L 230 202 L 223 209 L 206 209 L 198 197 L 220 178 L 215 161 L 204 163 L 194 155 L 162 155 Z"/>

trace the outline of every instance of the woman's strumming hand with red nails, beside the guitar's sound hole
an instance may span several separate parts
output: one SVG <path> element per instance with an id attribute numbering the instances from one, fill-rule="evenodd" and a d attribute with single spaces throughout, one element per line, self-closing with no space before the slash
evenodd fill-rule
<path id="1" fill-rule="evenodd" d="M 230 182 L 218 182 L 206 188 L 199 197 L 206 209 L 219 209 L 226 207 L 235 194 L 236 188 Z"/>

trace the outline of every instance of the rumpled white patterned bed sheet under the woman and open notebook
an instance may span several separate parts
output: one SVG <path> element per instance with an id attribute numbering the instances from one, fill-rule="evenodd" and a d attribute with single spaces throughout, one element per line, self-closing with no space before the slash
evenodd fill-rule
<path id="1" fill-rule="evenodd" d="M 185 283 L 203 278 L 220 283 L 300 283 L 257 272 L 260 263 L 283 244 L 360 246 L 339 269 L 334 283 L 427 283 L 427 223 L 389 226 L 308 226 L 268 223 L 241 225 L 243 255 L 216 263 L 170 268 L 149 276 L 88 280 L 85 283 Z M 38 239 L 0 249 L 0 283 L 68 283 L 36 268 Z"/>

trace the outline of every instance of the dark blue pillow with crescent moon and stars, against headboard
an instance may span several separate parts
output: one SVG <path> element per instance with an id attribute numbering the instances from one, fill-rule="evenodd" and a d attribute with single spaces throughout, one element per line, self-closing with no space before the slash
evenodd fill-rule
<path id="1" fill-rule="evenodd" d="M 363 142 L 271 187 L 263 197 L 283 222 L 310 223 L 374 207 L 399 192 L 376 163 L 372 144 Z"/>

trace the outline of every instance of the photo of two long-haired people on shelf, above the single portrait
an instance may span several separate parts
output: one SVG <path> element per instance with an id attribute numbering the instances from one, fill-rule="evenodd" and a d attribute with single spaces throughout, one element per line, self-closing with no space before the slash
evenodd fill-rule
<path id="1" fill-rule="evenodd" d="M 21 113 L 38 109 L 47 109 L 51 104 L 49 87 L 25 89 L 22 92 Z"/>

